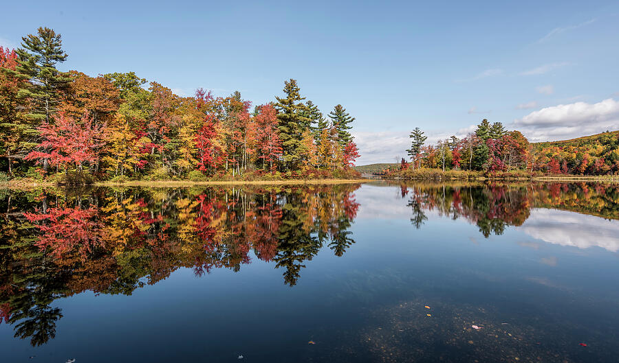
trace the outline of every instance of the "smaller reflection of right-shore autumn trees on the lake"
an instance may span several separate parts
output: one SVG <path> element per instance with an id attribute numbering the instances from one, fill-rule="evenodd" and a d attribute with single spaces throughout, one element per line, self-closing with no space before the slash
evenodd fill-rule
<path id="1" fill-rule="evenodd" d="M 521 226 L 531 208 L 551 208 L 619 219 L 619 187 L 591 183 L 423 184 L 402 183 L 400 195 L 411 207 L 411 223 L 420 229 L 426 212 L 464 218 L 484 237 Z"/>

